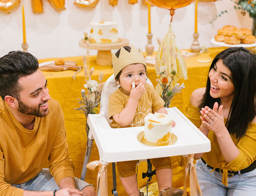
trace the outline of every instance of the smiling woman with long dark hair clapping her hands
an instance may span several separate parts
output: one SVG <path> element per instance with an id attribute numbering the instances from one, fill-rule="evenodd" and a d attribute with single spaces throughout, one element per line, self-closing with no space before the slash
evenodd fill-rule
<path id="1" fill-rule="evenodd" d="M 213 59 L 205 88 L 190 97 L 186 116 L 211 141 L 196 154 L 202 195 L 256 192 L 256 54 L 228 48 Z"/>

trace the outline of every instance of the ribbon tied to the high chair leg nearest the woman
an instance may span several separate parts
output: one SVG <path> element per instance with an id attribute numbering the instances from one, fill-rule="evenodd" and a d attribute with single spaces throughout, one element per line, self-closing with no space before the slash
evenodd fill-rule
<path id="1" fill-rule="evenodd" d="M 197 180 L 197 170 L 193 163 L 194 161 L 194 154 L 189 154 L 186 158 L 186 165 L 185 165 L 185 179 L 184 179 L 184 193 L 183 196 L 187 195 L 187 174 L 189 174 L 189 184 L 190 184 L 190 195 L 191 196 L 202 196 L 202 192 Z"/>

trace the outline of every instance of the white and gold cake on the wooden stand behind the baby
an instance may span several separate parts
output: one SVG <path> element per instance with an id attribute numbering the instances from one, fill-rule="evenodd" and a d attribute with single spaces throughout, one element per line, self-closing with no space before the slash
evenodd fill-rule
<path id="1" fill-rule="evenodd" d="M 104 21 L 90 22 L 91 43 L 107 44 L 118 41 L 117 22 Z"/>

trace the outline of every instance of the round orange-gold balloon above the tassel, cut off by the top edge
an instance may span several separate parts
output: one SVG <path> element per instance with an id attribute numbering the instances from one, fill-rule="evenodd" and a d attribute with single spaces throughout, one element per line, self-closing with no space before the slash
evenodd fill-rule
<path id="1" fill-rule="evenodd" d="M 148 3 L 163 9 L 178 9 L 185 7 L 195 0 L 147 0 Z"/>

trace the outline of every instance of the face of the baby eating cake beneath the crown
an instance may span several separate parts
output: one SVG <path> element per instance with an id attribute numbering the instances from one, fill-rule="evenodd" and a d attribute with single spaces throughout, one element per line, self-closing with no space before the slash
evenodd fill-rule
<path id="1" fill-rule="evenodd" d="M 124 69 L 122 69 L 119 82 L 123 91 L 129 95 L 132 90 L 132 82 L 134 82 L 134 86 L 136 87 L 139 83 L 145 85 L 146 79 L 145 65 L 138 63 L 124 67 Z"/>

